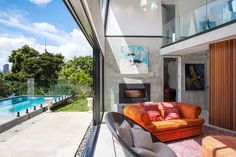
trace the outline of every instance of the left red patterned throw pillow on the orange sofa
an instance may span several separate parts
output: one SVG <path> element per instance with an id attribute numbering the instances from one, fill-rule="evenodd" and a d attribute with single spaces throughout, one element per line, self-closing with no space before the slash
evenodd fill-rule
<path id="1" fill-rule="evenodd" d="M 148 113 L 151 121 L 163 120 L 161 114 L 158 111 L 158 105 L 156 103 L 142 103 L 142 107 Z"/>

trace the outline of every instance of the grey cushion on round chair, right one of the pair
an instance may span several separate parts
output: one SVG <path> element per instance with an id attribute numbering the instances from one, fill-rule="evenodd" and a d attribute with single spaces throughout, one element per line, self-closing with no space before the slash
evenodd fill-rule
<path id="1" fill-rule="evenodd" d="M 135 147 L 152 150 L 153 142 L 151 134 L 147 131 L 131 128 L 133 142 Z"/>

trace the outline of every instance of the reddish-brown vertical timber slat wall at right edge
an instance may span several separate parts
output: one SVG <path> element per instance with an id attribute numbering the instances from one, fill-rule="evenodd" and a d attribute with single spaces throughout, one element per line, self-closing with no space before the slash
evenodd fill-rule
<path id="1" fill-rule="evenodd" d="M 210 124 L 236 130 L 236 39 L 210 45 Z"/>

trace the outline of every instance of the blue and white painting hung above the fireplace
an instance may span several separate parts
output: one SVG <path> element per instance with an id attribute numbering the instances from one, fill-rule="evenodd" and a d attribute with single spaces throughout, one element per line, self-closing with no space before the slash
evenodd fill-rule
<path id="1" fill-rule="evenodd" d="M 144 46 L 120 46 L 121 74 L 148 74 L 148 49 Z"/>

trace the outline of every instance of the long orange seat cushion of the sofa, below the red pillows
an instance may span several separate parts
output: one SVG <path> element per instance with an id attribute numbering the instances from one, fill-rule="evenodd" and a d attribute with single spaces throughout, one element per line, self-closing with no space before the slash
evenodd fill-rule
<path id="1" fill-rule="evenodd" d="M 204 119 L 176 119 L 153 122 L 156 127 L 156 132 L 175 130 L 179 128 L 199 126 L 204 123 Z"/>

